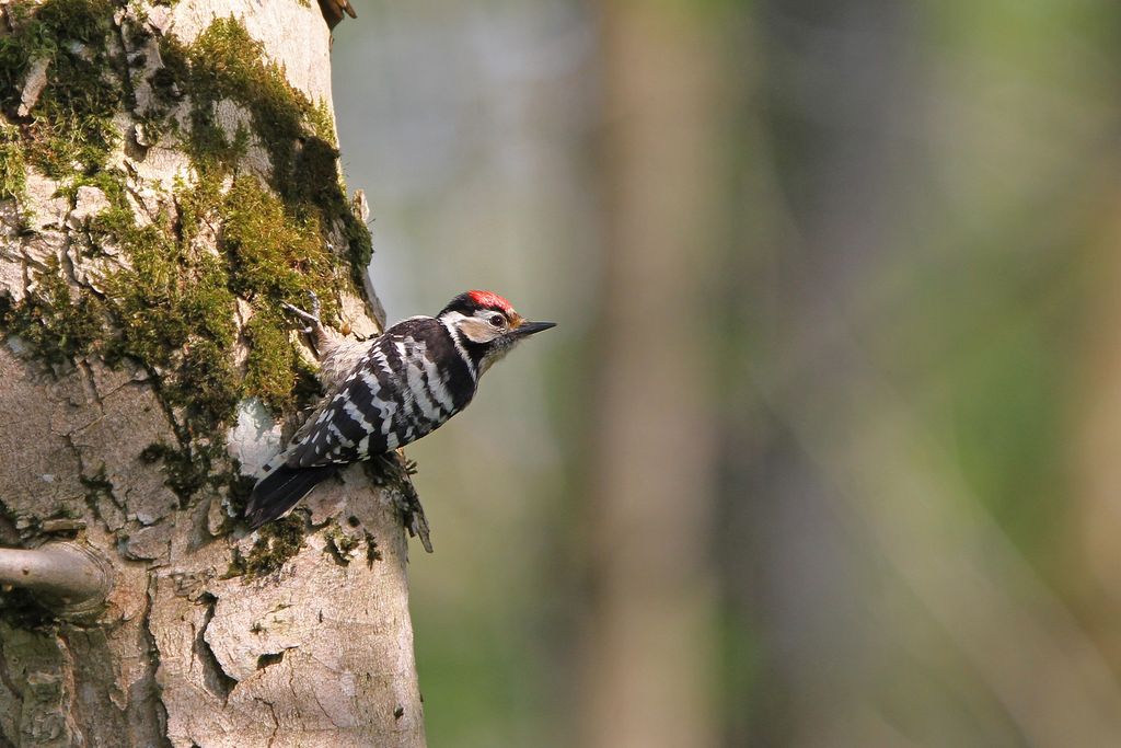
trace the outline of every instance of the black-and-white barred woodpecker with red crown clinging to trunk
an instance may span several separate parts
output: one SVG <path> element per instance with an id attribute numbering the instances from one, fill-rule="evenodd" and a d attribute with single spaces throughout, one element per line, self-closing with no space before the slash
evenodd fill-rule
<path id="1" fill-rule="evenodd" d="M 520 341 L 556 326 L 529 322 L 488 290 L 460 294 L 434 317 L 409 317 L 364 343 L 341 341 L 311 313 L 327 394 L 257 481 L 250 528 L 277 519 L 341 465 L 387 454 L 432 433 L 471 403 L 479 379 Z"/>

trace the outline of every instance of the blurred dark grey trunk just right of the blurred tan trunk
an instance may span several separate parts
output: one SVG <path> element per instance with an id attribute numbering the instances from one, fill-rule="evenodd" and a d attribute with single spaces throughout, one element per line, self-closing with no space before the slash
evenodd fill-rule
<path id="1" fill-rule="evenodd" d="M 839 332 L 860 306 L 871 269 L 893 250 L 908 209 L 897 182 L 911 146 L 900 137 L 914 101 L 911 18 L 905 4 L 795 0 L 760 4 L 757 19 L 752 41 L 762 77 L 752 101 L 766 130 L 757 146 L 775 161 L 754 159 L 751 168 L 775 170 L 762 188 L 778 201 L 750 192 L 743 197 L 744 220 L 753 222 L 743 231 L 756 251 L 734 258 L 741 271 L 728 277 L 751 284 L 752 292 L 729 288 L 724 314 L 754 325 L 732 340 L 754 341 L 745 355 L 756 359 L 747 362 L 756 375 L 732 388 L 757 386 L 763 366 L 799 407 L 850 417 L 844 404 L 860 353 Z M 760 228 L 768 225 L 769 236 Z M 729 593 L 738 601 L 738 620 L 758 626 L 765 659 L 756 683 L 759 708 L 753 720 L 733 723 L 734 739 L 855 745 L 846 730 L 860 719 L 877 650 L 862 621 L 868 585 L 876 583 L 867 529 L 846 516 L 844 497 L 782 414 L 739 414 L 744 419 L 730 422 L 722 440 L 732 470 L 724 558 L 728 579 L 751 581 Z M 744 459 L 752 453 L 753 460 Z"/>

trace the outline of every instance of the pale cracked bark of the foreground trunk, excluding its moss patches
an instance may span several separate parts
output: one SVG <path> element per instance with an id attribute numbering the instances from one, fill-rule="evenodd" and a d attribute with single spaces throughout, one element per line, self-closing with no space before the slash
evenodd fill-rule
<path id="1" fill-rule="evenodd" d="M 49 4 L 22 4 L 18 12 L 6 6 L 0 40 Z M 19 91 L 3 102 L 6 157 L 19 163 L 9 158 L 0 188 L 0 297 L 22 316 L 4 317 L 0 343 L 0 545 L 74 538 L 104 556 L 114 585 L 104 610 L 80 620 L 53 615 L 18 589 L 0 593 L 0 746 L 423 746 L 407 545 L 393 491 L 372 487 L 356 467 L 321 487 L 309 511 L 282 530 L 247 535 L 237 519 L 239 496 L 250 484 L 241 475 L 276 451 L 294 421 L 294 405 L 266 407 L 267 397 L 256 396 L 263 385 L 247 375 L 266 333 L 278 331 L 277 350 L 299 350 L 291 345 L 295 324 L 286 327 L 282 315 L 250 332 L 285 294 L 219 284 L 229 304 L 216 308 L 232 320 L 234 342 L 217 350 L 230 361 L 237 386 L 228 389 L 238 399 L 209 426 L 192 415 L 192 393 L 179 391 L 187 380 L 172 371 L 202 350 L 205 334 L 192 332 L 182 350 L 168 352 L 166 366 L 127 348 L 106 354 L 131 323 L 127 307 L 114 305 L 121 292 L 109 279 L 139 268 L 140 259 L 95 231 L 99 218 L 123 200 L 137 227 L 166 223 L 168 241 L 183 242 L 186 202 L 174 193 L 198 184 L 205 172 L 197 148 L 185 145 L 202 121 L 192 91 L 165 85 L 173 95 L 160 104 L 164 124 L 151 126 L 156 86 L 170 64 L 167 43 L 189 47 L 216 20 L 237 19 L 261 45 L 240 52 L 274 63 L 268 70 L 287 80 L 294 100 L 302 95 L 325 113 L 327 127 L 308 124 L 308 132 L 333 139 L 330 37 L 319 9 L 297 0 L 83 6 L 90 7 L 108 9 L 112 33 L 106 39 L 78 35 L 66 48 L 96 63 L 86 50 L 104 45 L 121 65 L 106 65 L 101 76 L 119 79 L 131 94 L 112 114 L 113 130 L 124 137 L 105 163 L 47 176 L 30 156 L 22 158 L 20 149 L 34 145 L 37 100 L 57 87 L 50 82 L 61 65 L 55 53 L 16 71 Z M 295 149 L 298 166 L 298 155 L 313 146 L 331 148 L 311 135 L 268 142 L 258 129 L 263 120 L 237 100 L 248 93 L 204 112 L 231 142 L 243 142 L 224 173 L 210 174 L 219 175 L 220 193 L 243 178 L 254 179 L 249 190 L 282 193 L 278 153 Z M 328 172 L 319 175 L 323 190 L 337 190 L 334 168 Z M 309 183 L 319 178 L 297 173 Z M 123 186 L 115 203 L 111 184 L 96 181 L 105 174 Z M 278 215 L 303 218 L 294 205 L 286 198 Z M 221 212 L 204 214 L 187 242 L 222 268 L 243 260 L 231 249 L 224 220 Z M 348 224 L 325 211 L 317 220 L 315 242 L 336 252 L 343 268 L 328 274 L 331 314 L 353 334 L 377 332 L 383 321 L 368 312 L 377 301 L 350 273 L 353 219 Z M 307 273 L 298 264 L 281 269 Z M 48 286 L 54 307 L 28 306 Z M 98 342 L 59 342 L 73 327 L 44 320 L 76 314 L 80 299 L 109 310 L 92 315 Z M 195 371 L 191 381 L 206 384 L 217 373 Z"/>

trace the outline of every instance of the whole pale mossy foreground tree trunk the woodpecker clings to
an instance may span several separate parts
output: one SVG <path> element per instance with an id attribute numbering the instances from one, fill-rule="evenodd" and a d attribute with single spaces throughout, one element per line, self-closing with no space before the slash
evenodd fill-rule
<path id="1" fill-rule="evenodd" d="M 239 520 L 319 396 L 281 304 L 383 322 L 319 9 L 2 8 L 0 546 L 39 554 L 0 588 L 0 746 L 423 746 L 398 487 Z"/>

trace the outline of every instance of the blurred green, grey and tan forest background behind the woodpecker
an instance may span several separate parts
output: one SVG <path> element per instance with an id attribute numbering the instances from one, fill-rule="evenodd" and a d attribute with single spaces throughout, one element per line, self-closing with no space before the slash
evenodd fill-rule
<path id="1" fill-rule="evenodd" d="M 1121 746 L 1121 6 L 362 0 L 430 745 Z"/>

